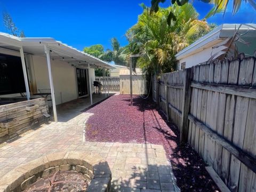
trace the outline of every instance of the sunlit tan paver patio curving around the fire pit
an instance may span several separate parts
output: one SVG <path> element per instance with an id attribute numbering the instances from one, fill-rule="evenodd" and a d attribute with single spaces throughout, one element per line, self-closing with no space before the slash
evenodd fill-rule
<path id="1" fill-rule="evenodd" d="M 50 153 L 84 151 L 106 159 L 112 172 L 113 191 L 179 190 L 163 146 L 88 142 L 83 135 L 85 122 L 91 115 L 77 113 L 71 118 L 63 115 L 63 122 L 44 124 L 4 143 L 0 146 L 0 178 L 20 164 Z"/>

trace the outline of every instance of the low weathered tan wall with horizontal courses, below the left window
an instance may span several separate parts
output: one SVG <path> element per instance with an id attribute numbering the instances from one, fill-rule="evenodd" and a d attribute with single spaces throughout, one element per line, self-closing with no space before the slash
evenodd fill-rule
<path id="1" fill-rule="evenodd" d="M 38 126 L 47 112 L 45 98 L 0 106 L 0 143 Z"/>

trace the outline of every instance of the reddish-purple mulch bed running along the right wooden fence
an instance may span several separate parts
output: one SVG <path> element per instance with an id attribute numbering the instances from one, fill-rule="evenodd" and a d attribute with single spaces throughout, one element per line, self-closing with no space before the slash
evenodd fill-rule
<path id="1" fill-rule="evenodd" d="M 131 107 L 130 95 L 114 95 L 86 112 L 94 113 L 87 121 L 87 140 L 163 145 L 182 191 L 219 191 L 203 159 L 180 145 L 177 127 L 166 123 L 151 99 L 136 96 Z"/>

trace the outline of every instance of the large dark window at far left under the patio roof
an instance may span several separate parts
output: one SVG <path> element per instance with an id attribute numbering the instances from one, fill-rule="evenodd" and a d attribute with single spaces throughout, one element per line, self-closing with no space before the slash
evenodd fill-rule
<path id="1" fill-rule="evenodd" d="M 0 95 L 26 92 L 20 57 L 0 54 Z"/>

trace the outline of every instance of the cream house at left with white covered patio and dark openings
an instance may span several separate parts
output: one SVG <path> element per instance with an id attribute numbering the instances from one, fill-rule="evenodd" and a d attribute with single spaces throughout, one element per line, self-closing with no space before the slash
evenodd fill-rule
<path id="1" fill-rule="evenodd" d="M 0 98 L 50 90 L 54 119 L 56 105 L 91 98 L 94 68 L 111 66 L 53 38 L 19 38 L 0 33 Z"/>

